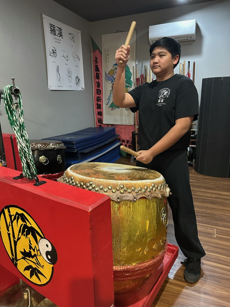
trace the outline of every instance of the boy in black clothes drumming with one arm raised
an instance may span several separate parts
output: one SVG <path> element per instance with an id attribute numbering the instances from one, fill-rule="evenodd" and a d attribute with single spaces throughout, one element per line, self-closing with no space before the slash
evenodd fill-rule
<path id="1" fill-rule="evenodd" d="M 129 53 L 130 46 L 125 45 L 116 51 L 113 103 L 132 112 L 139 110 L 140 156 L 136 157 L 136 165 L 161 173 L 171 189 L 168 201 L 175 238 L 187 258 L 181 262 L 186 267 L 184 278 L 193 284 L 200 278 L 201 257 L 205 256 L 197 233 L 187 162 L 190 126 L 198 116 L 197 90 L 191 79 L 174 74 L 181 47 L 174 38 L 163 37 L 150 47 L 150 67 L 156 80 L 125 93 L 125 65 Z"/>

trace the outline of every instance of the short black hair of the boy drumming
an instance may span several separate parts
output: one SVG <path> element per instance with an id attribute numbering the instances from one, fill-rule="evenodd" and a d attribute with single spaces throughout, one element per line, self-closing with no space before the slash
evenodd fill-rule
<path id="1" fill-rule="evenodd" d="M 168 52 L 171 53 L 172 58 L 174 58 L 174 56 L 178 55 L 179 56 L 179 60 L 177 62 L 177 64 L 180 61 L 180 57 L 181 57 L 181 45 L 179 44 L 179 42 L 173 38 L 173 37 L 162 37 L 159 40 L 155 41 L 155 43 L 153 43 L 149 49 L 150 52 L 150 56 L 151 53 L 153 51 L 153 49 L 155 47 L 163 47 L 164 49 L 166 49 Z M 174 65 L 174 68 L 177 66 L 177 64 Z"/>

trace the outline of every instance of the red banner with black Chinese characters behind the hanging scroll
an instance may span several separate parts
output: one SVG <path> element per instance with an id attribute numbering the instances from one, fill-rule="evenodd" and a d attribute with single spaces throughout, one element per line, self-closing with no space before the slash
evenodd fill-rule
<path id="1" fill-rule="evenodd" d="M 116 133 L 123 146 L 132 149 L 132 131 L 135 131 L 134 125 L 116 125 L 114 123 L 103 124 L 103 77 L 102 77 L 102 52 L 90 37 L 90 51 L 92 64 L 92 78 L 94 91 L 94 120 L 96 127 L 115 127 Z M 130 111 L 131 112 L 131 111 Z M 134 149 L 135 150 L 135 149 Z"/>

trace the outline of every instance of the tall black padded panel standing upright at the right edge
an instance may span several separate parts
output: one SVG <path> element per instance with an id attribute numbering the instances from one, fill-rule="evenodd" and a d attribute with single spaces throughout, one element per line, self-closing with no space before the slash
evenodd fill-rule
<path id="1" fill-rule="evenodd" d="M 196 171 L 230 177 L 230 77 L 202 80 Z"/>

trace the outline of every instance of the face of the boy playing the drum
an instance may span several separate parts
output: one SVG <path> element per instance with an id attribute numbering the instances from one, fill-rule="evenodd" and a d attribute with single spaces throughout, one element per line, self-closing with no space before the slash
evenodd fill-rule
<path id="1" fill-rule="evenodd" d="M 155 47 L 151 53 L 150 67 L 156 76 L 164 76 L 173 72 L 174 64 L 178 62 L 179 56 L 172 58 L 170 52 L 163 47 Z"/>

